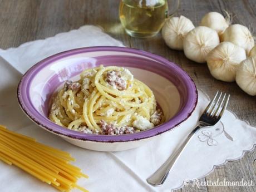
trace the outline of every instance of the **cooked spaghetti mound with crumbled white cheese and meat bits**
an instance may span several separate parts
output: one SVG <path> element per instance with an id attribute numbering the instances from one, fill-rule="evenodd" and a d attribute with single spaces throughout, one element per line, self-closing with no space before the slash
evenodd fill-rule
<path id="1" fill-rule="evenodd" d="M 153 92 L 123 67 L 85 70 L 66 81 L 53 99 L 49 118 L 71 130 L 121 135 L 150 129 L 164 121 Z"/>

